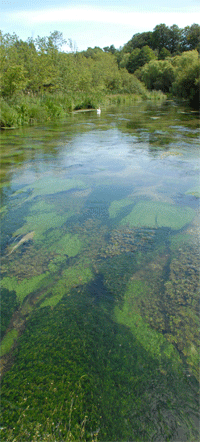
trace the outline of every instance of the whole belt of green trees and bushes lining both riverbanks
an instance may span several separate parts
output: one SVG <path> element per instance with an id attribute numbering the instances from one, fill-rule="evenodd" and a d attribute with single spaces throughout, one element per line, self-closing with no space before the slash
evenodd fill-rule
<path id="1" fill-rule="evenodd" d="M 200 26 L 165 24 L 133 35 L 122 48 L 78 52 L 59 31 L 19 39 L 0 32 L 1 127 L 57 119 L 98 106 L 108 94 L 149 97 L 148 89 L 172 93 L 197 107 Z"/>

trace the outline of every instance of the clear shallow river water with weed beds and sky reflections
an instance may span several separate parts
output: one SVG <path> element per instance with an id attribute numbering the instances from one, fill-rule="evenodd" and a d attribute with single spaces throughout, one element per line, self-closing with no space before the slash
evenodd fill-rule
<path id="1" fill-rule="evenodd" d="M 2 134 L 5 440 L 197 437 L 198 136 L 146 103 Z"/>

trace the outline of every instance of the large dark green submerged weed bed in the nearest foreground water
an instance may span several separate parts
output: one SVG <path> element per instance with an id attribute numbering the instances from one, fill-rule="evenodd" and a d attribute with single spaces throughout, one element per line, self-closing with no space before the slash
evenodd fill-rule
<path id="1" fill-rule="evenodd" d="M 58 441 L 67 440 L 69 427 L 74 442 L 84 435 L 89 441 L 91 433 L 93 441 L 97 433 L 101 441 L 148 441 L 155 434 L 172 440 L 177 426 L 186 430 L 190 422 L 190 401 L 191 387 L 176 361 L 164 353 L 152 357 L 85 286 L 27 321 L 14 365 L 3 379 L 2 440 L 9 440 L 10 429 L 16 440 L 34 440 L 38 413 L 42 441 L 50 415 Z M 80 438 L 77 423 L 85 416 Z"/>

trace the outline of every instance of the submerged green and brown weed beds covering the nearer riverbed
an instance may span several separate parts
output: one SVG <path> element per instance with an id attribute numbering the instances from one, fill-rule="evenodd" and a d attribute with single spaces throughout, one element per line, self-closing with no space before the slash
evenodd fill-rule
<path id="1" fill-rule="evenodd" d="M 37 198 L 32 213 L 49 210 L 37 181 L 32 196 Z M 55 194 L 53 210 L 56 204 L 58 210 Z M 141 442 L 163 434 L 171 440 L 179 423 L 189 438 L 197 435 L 191 413 L 198 377 L 198 253 L 192 242 L 184 248 L 176 233 L 192 221 L 193 211 L 184 215 L 172 208 L 163 243 L 162 218 L 148 226 L 140 215 L 139 227 L 123 215 L 133 204 L 131 196 L 110 204 L 110 220 L 122 217 L 118 227 L 96 219 L 50 225 L 23 252 L 16 248 L 15 259 L 8 255 L 2 286 L 16 293 L 21 313 L 2 341 L 2 355 L 15 342 L 24 315 L 26 328 L 4 375 L 2 440 L 134 435 Z M 156 210 L 163 213 L 162 202 Z M 38 244 L 41 273 L 21 281 Z"/>

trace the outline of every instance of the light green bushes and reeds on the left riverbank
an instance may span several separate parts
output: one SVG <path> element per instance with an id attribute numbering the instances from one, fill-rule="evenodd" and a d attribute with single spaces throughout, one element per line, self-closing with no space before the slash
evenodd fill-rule
<path id="1" fill-rule="evenodd" d="M 63 119 L 74 109 L 97 108 L 108 93 L 144 94 L 120 71 L 115 48 L 64 53 L 62 34 L 27 42 L 1 34 L 1 127 Z"/>

